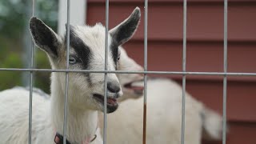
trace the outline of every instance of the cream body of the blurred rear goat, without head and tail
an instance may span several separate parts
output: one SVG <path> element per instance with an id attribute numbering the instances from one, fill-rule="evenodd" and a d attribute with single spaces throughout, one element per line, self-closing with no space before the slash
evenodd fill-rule
<path id="1" fill-rule="evenodd" d="M 186 94 L 185 142 L 201 141 L 202 104 Z M 107 142 L 142 143 L 143 98 L 120 103 L 116 112 L 108 115 Z M 100 118 L 102 121 L 102 118 Z M 169 79 L 148 81 L 146 143 L 178 144 L 181 141 L 182 88 Z"/>

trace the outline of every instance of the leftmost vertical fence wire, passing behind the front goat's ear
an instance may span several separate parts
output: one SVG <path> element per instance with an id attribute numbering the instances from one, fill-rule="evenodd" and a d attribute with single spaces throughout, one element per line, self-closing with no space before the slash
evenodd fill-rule
<path id="1" fill-rule="evenodd" d="M 32 17 L 34 17 L 34 0 L 32 0 Z M 31 38 L 30 68 L 34 68 L 34 42 Z M 33 71 L 30 71 L 30 106 L 29 106 L 29 144 L 32 143 L 32 97 L 33 97 Z"/>

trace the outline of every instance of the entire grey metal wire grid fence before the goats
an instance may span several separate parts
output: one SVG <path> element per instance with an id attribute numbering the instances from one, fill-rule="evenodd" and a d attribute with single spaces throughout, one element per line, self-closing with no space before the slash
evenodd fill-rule
<path id="1" fill-rule="evenodd" d="M 32 7 L 32 16 L 34 16 L 34 0 Z M 70 49 L 70 0 L 67 2 L 67 31 L 66 31 L 66 70 L 50 70 L 50 69 L 35 69 L 34 68 L 34 44 L 32 42 L 31 47 L 31 64 L 30 69 L 15 69 L 15 68 L 0 68 L 0 71 L 24 71 L 30 72 L 30 110 L 29 110 L 29 143 L 31 144 L 31 127 L 32 127 L 32 88 L 33 88 L 33 73 L 36 71 L 42 72 L 65 72 L 66 73 L 66 91 L 65 91 L 65 109 L 64 109 L 64 126 L 63 126 L 63 138 L 64 144 L 66 144 L 66 114 L 67 114 L 67 95 L 68 95 L 68 85 L 69 85 L 69 73 L 103 73 L 105 74 L 105 95 L 104 95 L 104 130 L 103 130 L 103 143 L 106 144 L 106 75 L 109 73 L 114 74 L 144 74 L 144 114 L 143 114 L 143 144 L 146 144 L 146 90 L 147 90 L 147 74 L 178 74 L 182 75 L 182 144 L 184 144 L 184 132 L 186 129 L 185 126 L 185 91 L 186 91 L 186 75 L 219 75 L 223 76 L 223 133 L 222 133 L 222 144 L 226 144 L 226 88 L 227 88 L 227 76 L 256 76 L 255 73 L 228 73 L 227 72 L 227 16 L 228 16 L 228 2 L 224 0 L 224 71 L 221 73 L 218 72 L 189 72 L 186 71 L 186 10 L 187 2 L 183 1 L 183 57 L 182 57 L 182 72 L 181 71 L 148 71 L 147 70 L 147 21 L 148 21 L 148 1 L 145 0 L 145 19 L 144 19 L 144 71 L 123 71 L 123 70 L 107 70 L 107 57 L 108 57 L 108 27 L 109 27 L 109 0 L 106 0 L 106 53 L 105 53 L 105 70 L 94 71 L 94 70 L 69 70 L 69 49 Z"/>

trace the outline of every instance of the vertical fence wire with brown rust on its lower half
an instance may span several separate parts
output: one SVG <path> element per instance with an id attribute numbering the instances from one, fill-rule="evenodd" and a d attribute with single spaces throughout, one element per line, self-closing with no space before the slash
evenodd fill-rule
<path id="1" fill-rule="evenodd" d="M 144 1 L 144 70 L 147 71 L 147 14 L 148 1 Z M 144 74 L 144 106 L 143 106 L 143 144 L 146 144 L 146 92 L 147 74 Z"/>

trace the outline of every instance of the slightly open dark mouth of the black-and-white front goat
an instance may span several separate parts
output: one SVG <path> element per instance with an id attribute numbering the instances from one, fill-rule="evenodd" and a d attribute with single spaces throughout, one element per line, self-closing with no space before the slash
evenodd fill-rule
<path id="1" fill-rule="evenodd" d="M 104 96 L 102 94 L 93 94 L 94 99 L 104 106 Z M 106 98 L 106 112 L 112 113 L 118 109 L 118 102 L 116 98 Z"/>

